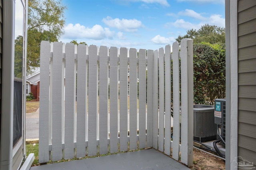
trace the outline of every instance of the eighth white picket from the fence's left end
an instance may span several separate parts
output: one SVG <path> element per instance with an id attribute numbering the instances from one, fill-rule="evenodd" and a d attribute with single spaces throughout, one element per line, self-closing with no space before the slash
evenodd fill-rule
<path id="1" fill-rule="evenodd" d="M 127 117 L 128 117 L 128 60 L 127 49 L 120 48 L 120 151 L 126 151 L 128 149 L 128 129 L 127 129 Z"/>

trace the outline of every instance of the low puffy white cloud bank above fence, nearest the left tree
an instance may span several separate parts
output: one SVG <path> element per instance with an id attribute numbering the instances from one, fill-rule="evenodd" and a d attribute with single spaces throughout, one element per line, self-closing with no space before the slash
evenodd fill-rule
<path id="1" fill-rule="evenodd" d="M 89 28 L 80 25 L 79 23 L 76 23 L 75 25 L 69 23 L 64 27 L 64 31 L 65 34 L 63 35 L 63 38 L 67 39 L 112 39 L 114 36 L 113 31 L 110 31 L 109 28 L 103 28 L 101 25 L 94 25 L 92 28 Z"/>

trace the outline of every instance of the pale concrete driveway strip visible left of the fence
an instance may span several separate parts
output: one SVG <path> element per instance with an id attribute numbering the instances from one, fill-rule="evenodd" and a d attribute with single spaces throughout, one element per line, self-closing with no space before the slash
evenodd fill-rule
<path id="1" fill-rule="evenodd" d="M 39 108 L 34 113 L 26 113 L 26 139 L 39 138 Z"/>

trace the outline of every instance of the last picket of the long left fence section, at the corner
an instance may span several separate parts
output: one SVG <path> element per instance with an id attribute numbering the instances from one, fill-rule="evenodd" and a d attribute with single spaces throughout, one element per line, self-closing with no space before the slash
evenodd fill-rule
<path id="1" fill-rule="evenodd" d="M 153 59 L 154 51 L 148 50 L 147 66 L 147 147 L 153 146 Z"/>

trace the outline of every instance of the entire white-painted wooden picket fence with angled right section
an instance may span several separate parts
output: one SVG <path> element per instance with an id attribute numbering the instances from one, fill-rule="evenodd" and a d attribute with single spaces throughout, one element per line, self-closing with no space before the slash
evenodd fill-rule
<path id="1" fill-rule="evenodd" d="M 170 49 L 42 41 L 39 162 L 153 147 L 192 166 L 192 40 Z"/>

